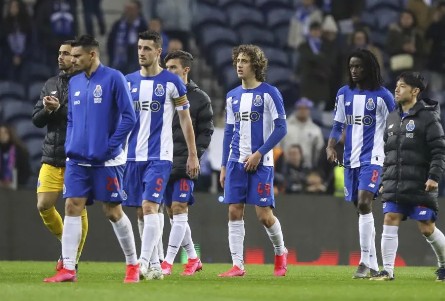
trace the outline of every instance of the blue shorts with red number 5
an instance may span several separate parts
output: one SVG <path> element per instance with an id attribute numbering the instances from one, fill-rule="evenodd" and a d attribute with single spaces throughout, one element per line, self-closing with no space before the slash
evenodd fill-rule
<path id="1" fill-rule="evenodd" d="M 160 204 L 164 195 L 172 161 L 129 161 L 124 172 L 124 206 L 141 207 L 142 200 Z"/>

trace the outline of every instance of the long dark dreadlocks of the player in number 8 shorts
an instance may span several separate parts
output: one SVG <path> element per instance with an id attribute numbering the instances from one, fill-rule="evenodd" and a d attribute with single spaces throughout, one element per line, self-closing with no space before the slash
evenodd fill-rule
<path id="1" fill-rule="evenodd" d="M 365 69 L 366 77 L 366 88 L 370 91 L 379 90 L 383 86 L 383 78 L 380 74 L 380 65 L 377 61 L 376 56 L 367 49 L 358 48 L 350 52 L 348 56 L 348 85 L 351 89 L 356 87 L 356 83 L 352 79 L 351 71 L 349 69 L 349 62 L 351 58 L 359 58 L 363 62 L 363 67 Z"/>

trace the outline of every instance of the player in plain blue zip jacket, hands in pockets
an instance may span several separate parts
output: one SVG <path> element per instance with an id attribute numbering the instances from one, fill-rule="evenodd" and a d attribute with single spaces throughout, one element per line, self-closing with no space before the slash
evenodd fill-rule
<path id="1" fill-rule="evenodd" d="M 84 72 L 73 76 L 68 86 L 63 269 L 44 281 L 77 281 L 74 267 L 82 234 L 81 214 L 92 196 L 102 202 L 124 251 L 124 282 L 138 282 L 132 224 L 121 206 L 126 161 L 122 146 L 136 121 L 130 91 L 124 75 L 100 63 L 99 43 L 94 38 L 82 36 L 71 46 L 71 62 Z"/>

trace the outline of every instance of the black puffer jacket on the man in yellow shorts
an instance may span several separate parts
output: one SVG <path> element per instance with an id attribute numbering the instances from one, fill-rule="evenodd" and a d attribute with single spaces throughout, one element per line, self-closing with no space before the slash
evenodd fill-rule
<path id="1" fill-rule="evenodd" d="M 64 144 L 68 118 L 68 82 L 76 74 L 79 73 L 66 75 L 61 72 L 59 75 L 46 80 L 40 93 L 40 99 L 34 107 L 34 125 L 40 128 L 47 126 L 48 129 L 43 144 L 42 163 L 56 167 L 65 166 Z M 57 112 L 48 113 L 45 111 L 43 98 L 50 95 L 58 98 L 60 102 L 60 108 Z"/>

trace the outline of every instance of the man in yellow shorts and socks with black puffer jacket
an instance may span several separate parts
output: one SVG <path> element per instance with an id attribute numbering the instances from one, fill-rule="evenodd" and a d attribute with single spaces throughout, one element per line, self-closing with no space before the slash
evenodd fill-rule
<path id="1" fill-rule="evenodd" d="M 35 126 L 47 127 L 47 134 L 43 145 L 42 168 L 37 182 L 37 208 L 45 226 L 59 241 L 62 241 L 63 222 L 54 204 L 63 189 L 65 174 L 65 138 L 68 119 L 68 82 L 76 72 L 71 64 L 71 43 L 65 41 L 59 48 L 58 63 L 60 74 L 49 78 L 42 89 L 40 99 L 34 107 L 33 123 Z M 82 237 L 76 257 L 77 264 L 84 247 L 88 232 L 87 210 L 83 209 Z M 60 256 L 56 270 L 63 268 Z"/>

